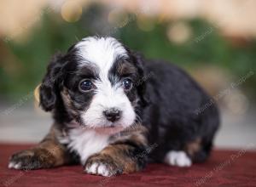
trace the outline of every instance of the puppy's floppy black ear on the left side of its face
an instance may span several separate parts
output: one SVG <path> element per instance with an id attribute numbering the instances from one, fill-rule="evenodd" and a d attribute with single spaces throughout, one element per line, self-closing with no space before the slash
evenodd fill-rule
<path id="1" fill-rule="evenodd" d="M 55 54 L 50 60 L 47 67 L 47 73 L 44 76 L 43 82 L 39 88 L 40 106 L 44 111 L 51 111 L 55 108 L 57 99 L 59 99 L 60 86 L 63 81 L 62 54 Z"/>

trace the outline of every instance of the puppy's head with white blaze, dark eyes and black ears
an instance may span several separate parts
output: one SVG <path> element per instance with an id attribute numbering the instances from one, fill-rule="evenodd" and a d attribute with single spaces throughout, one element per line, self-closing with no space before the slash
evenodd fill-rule
<path id="1" fill-rule="evenodd" d="M 142 62 L 128 48 L 113 37 L 86 37 L 52 59 L 40 104 L 85 127 L 121 130 L 140 118 L 142 80 Z"/>

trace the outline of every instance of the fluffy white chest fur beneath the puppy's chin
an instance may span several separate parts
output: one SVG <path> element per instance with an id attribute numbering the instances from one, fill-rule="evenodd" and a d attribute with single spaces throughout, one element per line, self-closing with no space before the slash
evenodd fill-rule
<path id="1" fill-rule="evenodd" d="M 108 138 L 109 135 L 96 133 L 94 130 L 75 128 L 70 130 L 67 139 L 61 139 L 61 142 L 76 151 L 81 163 L 84 164 L 89 156 L 100 152 L 108 145 Z"/>

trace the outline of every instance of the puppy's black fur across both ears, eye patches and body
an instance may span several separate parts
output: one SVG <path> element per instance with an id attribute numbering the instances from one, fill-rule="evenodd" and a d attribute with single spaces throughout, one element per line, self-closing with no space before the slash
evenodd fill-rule
<path id="1" fill-rule="evenodd" d="M 126 48 L 129 59 L 126 62 L 136 69 L 134 74 L 125 75 L 135 82 L 135 88 L 126 93 L 134 104 L 137 120 L 148 128 L 148 144 L 158 144 L 150 153 L 151 161 L 163 161 L 169 150 L 184 150 L 186 144 L 201 139 L 201 150 L 192 156 L 193 161 L 204 161 L 212 149 L 212 140 L 218 129 L 218 109 L 211 105 L 197 112 L 210 101 L 210 97 L 183 70 L 170 63 L 143 59 Z M 117 63 L 121 59 L 117 59 Z M 55 121 L 64 124 L 79 120 L 79 112 L 90 105 L 93 93 L 81 94 L 78 83 L 83 77 L 97 78 L 94 67 L 78 68 L 79 57 L 75 48 L 67 54 L 58 54 L 48 67 L 40 87 L 40 105 L 45 111 L 54 109 Z M 109 78 L 116 80 L 117 70 L 109 72 Z M 150 76 L 148 76 L 150 75 Z M 73 101 L 72 108 L 63 104 L 61 91 L 68 88 Z"/>

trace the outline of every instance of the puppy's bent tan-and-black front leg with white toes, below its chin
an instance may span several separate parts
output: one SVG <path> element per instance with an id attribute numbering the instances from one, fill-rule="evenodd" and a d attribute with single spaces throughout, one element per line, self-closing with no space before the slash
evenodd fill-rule
<path id="1" fill-rule="evenodd" d="M 119 173 L 134 173 L 143 169 L 144 156 L 141 158 L 135 155 L 138 154 L 138 151 L 143 153 L 143 150 L 146 150 L 147 140 L 142 132 L 125 132 L 120 136 L 113 137 L 112 144 L 88 158 L 84 164 L 85 171 L 103 176 L 113 176 Z M 104 168 L 104 173 L 101 173 L 102 168 Z"/>

